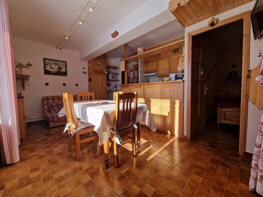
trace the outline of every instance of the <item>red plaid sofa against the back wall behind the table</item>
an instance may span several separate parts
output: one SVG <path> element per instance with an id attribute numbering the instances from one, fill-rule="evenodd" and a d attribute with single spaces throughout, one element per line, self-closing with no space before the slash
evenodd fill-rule
<path id="1" fill-rule="evenodd" d="M 74 101 L 77 101 L 77 95 L 73 95 Z M 57 122 L 58 124 L 52 124 L 54 126 L 56 125 L 62 125 L 66 123 L 67 117 L 63 116 L 59 118 L 57 113 L 61 110 L 63 107 L 63 96 L 44 96 L 42 99 L 43 102 L 43 110 L 44 110 L 44 119 L 49 122 Z M 53 108 L 51 108 L 53 106 Z M 54 108 L 55 106 L 55 108 Z M 59 124 L 59 122 L 61 124 Z M 51 125 L 51 124 L 50 124 Z"/>

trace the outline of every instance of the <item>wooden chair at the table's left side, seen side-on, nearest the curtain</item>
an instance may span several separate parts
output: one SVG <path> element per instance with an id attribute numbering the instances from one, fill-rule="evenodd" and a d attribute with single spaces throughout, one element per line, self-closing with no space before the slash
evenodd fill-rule
<path id="1" fill-rule="evenodd" d="M 74 128 L 79 128 L 81 129 L 77 132 L 75 132 L 76 136 L 76 161 L 79 160 L 79 153 L 80 153 L 80 144 L 84 142 L 89 142 L 94 140 L 95 138 L 98 138 L 98 136 L 90 136 L 90 137 L 85 137 L 85 139 L 80 140 L 80 135 L 81 134 L 86 134 L 87 133 L 93 133 L 94 132 L 94 125 L 83 121 L 83 120 L 78 120 L 76 117 L 76 113 L 74 110 L 74 104 L 73 104 L 73 94 L 72 93 L 63 93 L 63 102 L 64 102 L 64 108 L 68 120 L 68 124 L 70 129 L 68 130 L 68 151 L 70 152 L 72 149 L 72 134 L 70 134 L 70 131 L 72 131 Z M 74 125 L 72 125 L 74 124 Z M 100 146 L 100 155 L 102 155 L 102 149 L 103 146 Z"/>

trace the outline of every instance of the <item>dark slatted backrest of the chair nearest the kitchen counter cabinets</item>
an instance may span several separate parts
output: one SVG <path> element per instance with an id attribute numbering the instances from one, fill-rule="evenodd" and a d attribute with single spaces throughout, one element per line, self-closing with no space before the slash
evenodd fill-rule
<path id="1" fill-rule="evenodd" d="M 137 92 L 135 93 L 124 92 L 122 94 L 117 92 L 115 93 L 115 95 L 116 95 L 116 110 L 115 110 L 114 130 L 117 131 L 120 128 L 124 128 L 126 126 L 136 123 Z M 134 104 L 133 109 L 131 108 L 132 102 Z M 120 104 L 122 105 L 121 115 L 120 115 Z M 132 111 L 133 114 L 131 114 Z"/>

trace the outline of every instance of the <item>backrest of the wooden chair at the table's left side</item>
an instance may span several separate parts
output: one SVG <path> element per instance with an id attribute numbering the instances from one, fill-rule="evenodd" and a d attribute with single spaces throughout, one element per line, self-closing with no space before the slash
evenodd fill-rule
<path id="1" fill-rule="evenodd" d="M 74 123 L 75 128 L 79 127 L 78 119 L 74 110 L 74 103 L 73 103 L 73 94 L 72 93 L 63 93 L 63 103 L 64 108 L 67 116 L 68 123 Z"/>

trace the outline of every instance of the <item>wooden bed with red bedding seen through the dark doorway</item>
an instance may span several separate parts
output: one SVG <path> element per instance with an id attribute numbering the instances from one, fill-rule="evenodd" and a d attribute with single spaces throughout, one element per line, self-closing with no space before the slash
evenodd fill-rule
<path id="1" fill-rule="evenodd" d="M 220 123 L 240 125 L 240 96 L 226 99 L 218 104 L 217 127 Z"/>

